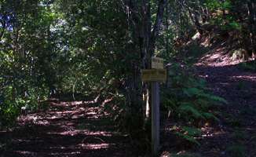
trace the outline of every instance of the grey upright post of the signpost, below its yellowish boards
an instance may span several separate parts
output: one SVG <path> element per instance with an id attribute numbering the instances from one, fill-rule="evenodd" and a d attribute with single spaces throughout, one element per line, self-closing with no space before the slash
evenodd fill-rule
<path id="1" fill-rule="evenodd" d="M 159 151 L 159 82 L 152 82 L 152 156 Z"/>

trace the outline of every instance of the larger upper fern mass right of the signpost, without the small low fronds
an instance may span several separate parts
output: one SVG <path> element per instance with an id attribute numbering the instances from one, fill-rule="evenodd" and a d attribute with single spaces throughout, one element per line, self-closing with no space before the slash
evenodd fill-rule
<path id="1" fill-rule="evenodd" d="M 218 120 L 210 109 L 218 104 L 227 104 L 226 100 L 207 93 L 205 82 L 189 75 L 179 64 L 173 64 L 169 74 L 171 85 L 163 93 L 163 105 L 175 117 L 187 122 Z"/>

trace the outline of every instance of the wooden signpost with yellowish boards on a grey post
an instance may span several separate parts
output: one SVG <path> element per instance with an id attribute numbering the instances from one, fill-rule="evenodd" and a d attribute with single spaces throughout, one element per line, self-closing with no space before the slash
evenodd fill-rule
<path id="1" fill-rule="evenodd" d="M 152 69 L 144 69 L 141 71 L 141 79 L 143 82 L 152 82 L 152 155 L 157 155 L 159 151 L 159 82 L 166 82 L 166 69 L 163 69 L 163 59 L 152 57 Z"/>

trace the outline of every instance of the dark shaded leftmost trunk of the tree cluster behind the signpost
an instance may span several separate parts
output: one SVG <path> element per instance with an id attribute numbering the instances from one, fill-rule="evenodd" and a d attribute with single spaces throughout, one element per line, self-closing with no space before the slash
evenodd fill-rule
<path id="1" fill-rule="evenodd" d="M 126 115 L 133 116 L 137 120 L 140 120 L 141 125 L 143 126 L 143 114 L 144 108 L 142 103 L 142 82 L 141 82 L 141 67 L 144 66 L 144 60 L 142 60 L 143 55 L 141 53 L 143 44 L 144 44 L 144 32 L 141 31 L 142 20 L 141 12 L 139 12 L 139 7 L 136 0 L 125 0 L 125 11 L 127 14 L 127 22 L 128 22 L 128 31 L 130 31 L 131 37 L 133 40 L 132 46 L 130 49 L 130 53 L 134 53 L 135 58 L 139 58 L 139 60 L 130 60 L 130 65 L 132 68 L 132 74 L 127 76 L 125 84 L 126 84 Z M 139 48 L 136 49 L 136 48 Z M 141 53 L 139 55 L 139 53 Z M 137 128 L 139 129 L 139 128 Z"/>

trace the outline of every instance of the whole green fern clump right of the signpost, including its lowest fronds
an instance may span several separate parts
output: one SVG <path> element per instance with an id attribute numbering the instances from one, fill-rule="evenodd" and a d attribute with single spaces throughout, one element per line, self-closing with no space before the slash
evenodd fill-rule
<path id="1" fill-rule="evenodd" d="M 181 126 L 174 132 L 186 141 L 199 144 L 194 137 L 199 136 L 196 129 L 206 122 L 217 122 L 217 106 L 227 104 L 227 101 L 209 93 L 206 82 L 198 79 L 184 65 L 172 64 L 168 70 L 167 83 L 163 87 L 163 107 L 169 112 L 175 122 Z"/>

